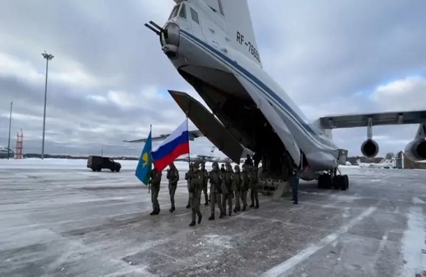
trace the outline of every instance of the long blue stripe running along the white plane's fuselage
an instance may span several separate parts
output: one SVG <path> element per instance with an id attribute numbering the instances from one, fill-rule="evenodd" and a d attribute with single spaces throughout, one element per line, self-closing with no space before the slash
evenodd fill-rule
<path id="1" fill-rule="evenodd" d="M 285 112 L 285 114 L 290 116 L 290 118 L 292 118 L 294 123 L 296 123 L 296 125 L 298 125 L 299 128 L 301 130 L 303 130 L 305 132 L 305 134 L 307 134 L 308 137 L 310 137 L 310 139 L 315 144 L 317 144 L 317 146 L 319 148 L 329 148 L 330 150 L 336 150 L 337 149 L 335 145 L 333 145 L 329 141 L 326 141 L 326 139 L 321 138 L 319 136 L 319 134 L 317 134 L 317 132 L 315 132 L 314 129 L 312 129 L 312 127 L 310 125 L 308 125 L 307 123 L 305 123 L 303 121 L 303 119 L 299 116 L 299 114 L 296 113 L 296 111 L 294 111 L 289 105 L 287 105 L 287 103 L 285 103 L 281 97 L 276 95 L 276 93 L 274 93 L 274 91 L 272 91 L 272 89 L 269 89 L 269 87 L 267 87 L 262 81 L 258 80 L 258 78 L 256 78 L 256 76 L 251 74 L 249 71 L 244 69 L 242 66 L 240 66 L 239 64 L 237 64 L 233 60 L 229 59 L 229 57 L 227 57 L 226 55 L 220 53 L 215 48 L 206 44 L 205 42 L 202 42 L 201 40 L 199 40 L 197 37 L 191 35 L 190 33 L 187 33 L 186 31 L 181 30 L 181 34 L 184 35 L 184 37 L 186 37 L 187 39 L 190 39 L 191 42 L 193 42 L 193 43 L 197 44 L 199 47 L 203 48 L 208 53 L 211 53 L 211 55 L 216 57 L 221 62 L 224 62 L 225 64 L 230 66 L 231 69 L 240 73 L 242 75 L 242 77 L 244 77 L 247 81 L 249 81 L 251 84 L 253 84 L 255 87 L 257 87 L 260 91 L 262 91 L 265 94 L 265 96 L 267 96 L 267 98 L 269 98 L 270 100 L 275 102 L 276 105 L 283 112 Z"/>

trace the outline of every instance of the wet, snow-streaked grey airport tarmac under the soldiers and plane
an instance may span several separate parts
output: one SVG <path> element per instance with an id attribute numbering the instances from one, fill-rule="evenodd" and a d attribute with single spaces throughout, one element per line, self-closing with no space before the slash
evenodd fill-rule
<path id="1" fill-rule="evenodd" d="M 214 221 L 202 199 L 190 227 L 185 181 L 169 213 L 163 174 L 152 216 L 132 166 L 81 163 L 0 164 L 0 276 L 426 276 L 426 171 L 342 168 L 347 191 L 301 182 L 299 205 Z"/>

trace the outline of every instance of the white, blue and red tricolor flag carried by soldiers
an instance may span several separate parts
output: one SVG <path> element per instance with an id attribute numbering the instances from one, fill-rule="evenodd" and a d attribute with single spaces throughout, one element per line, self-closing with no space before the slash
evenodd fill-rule
<path id="1" fill-rule="evenodd" d="M 183 154 L 189 154 L 188 118 L 152 150 L 152 163 L 157 170 L 162 171 Z"/>

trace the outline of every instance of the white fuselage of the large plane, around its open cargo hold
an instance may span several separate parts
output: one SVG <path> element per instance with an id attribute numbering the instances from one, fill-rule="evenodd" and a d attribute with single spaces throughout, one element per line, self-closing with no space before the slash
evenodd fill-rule
<path id="1" fill-rule="evenodd" d="M 312 173 L 337 168 L 339 148 L 330 137 L 305 118 L 261 66 L 236 50 L 231 39 L 247 44 L 247 51 L 260 62 L 251 42 L 202 14 L 199 23 L 170 18 L 163 27 L 168 35 L 161 35 L 161 45 L 213 114 L 242 145 L 268 157 L 272 168 L 282 165 L 285 152 L 297 165 L 307 163 Z M 316 177 L 311 174 L 307 179 Z"/>

